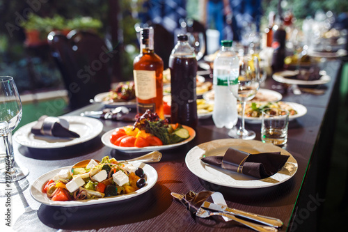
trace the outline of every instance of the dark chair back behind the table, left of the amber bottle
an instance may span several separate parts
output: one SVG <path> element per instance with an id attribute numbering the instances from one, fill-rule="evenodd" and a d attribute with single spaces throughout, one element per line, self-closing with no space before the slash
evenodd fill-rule
<path id="1" fill-rule="evenodd" d="M 70 109 L 88 105 L 97 93 L 110 90 L 112 54 L 102 38 L 87 31 L 70 31 L 68 36 L 52 31 L 47 40 L 68 90 Z"/>

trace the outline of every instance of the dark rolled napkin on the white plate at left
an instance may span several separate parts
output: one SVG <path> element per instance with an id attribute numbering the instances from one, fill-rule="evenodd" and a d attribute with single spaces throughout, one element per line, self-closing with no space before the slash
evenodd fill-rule
<path id="1" fill-rule="evenodd" d="M 63 118 L 41 116 L 38 123 L 31 127 L 31 133 L 35 135 L 48 135 L 53 137 L 79 138 L 79 134 L 69 130 L 69 123 Z"/>

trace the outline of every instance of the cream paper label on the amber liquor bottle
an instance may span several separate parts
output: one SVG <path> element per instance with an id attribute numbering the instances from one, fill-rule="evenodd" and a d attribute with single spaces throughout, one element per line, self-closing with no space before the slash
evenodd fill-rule
<path id="1" fill-rule="evenodd" d="M 134 70 L 133 73 L 136 98 L 141 100 L 156 98 L 156 72 Z"/>

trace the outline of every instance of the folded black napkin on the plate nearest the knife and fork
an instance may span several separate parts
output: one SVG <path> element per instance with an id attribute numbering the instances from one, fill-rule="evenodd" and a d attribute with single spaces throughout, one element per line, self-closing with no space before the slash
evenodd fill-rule
<path id="1" fill-rule="evenodd" d="M 201 160 L 222 169 L 262 179 L 277 173 L 289 157 L 280 155 L 280 152 L 250 154 L 228 148 L 224 156 L 208 156 Z"/>

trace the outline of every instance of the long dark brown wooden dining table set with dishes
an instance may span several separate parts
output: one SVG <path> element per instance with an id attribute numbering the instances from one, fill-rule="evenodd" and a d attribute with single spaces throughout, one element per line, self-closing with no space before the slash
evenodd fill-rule
<path id="1" fill-rule="evenodd" d="M 35 201 L 30 193 L 31 184 L 48 171 L 80 160 L 101 160 L 106 155 L 116 160 L 127 160 L 143 154 L 122 153 L 104 146 L 102 134 L 129 125 L 129 122 L 100 119 L 104 125 L 102 133 L 82 144 L 66 148 L 29 148 L 14 142 L 15 161 L 19 167 L 29 169 L 30 173 L 24 180 L 13 184 L 19 193 L 11 196 L 11 228 L 15 231 L 251 231 L 237 222 L 225 222 L 221 217 L 195 217 L 171 196 L 171 192 L 183 194 L 209 190 L 221 192 L 230 208 L 280 219 L 284 225 L 279 231 L 297 231 L 308 226 L 315 231 L 324 204 L 322 193 L 330 161 L 340 67 L 338 60 L 322 63 L 322 69 L 331 77 L 329 83 L 315 86 L 324 89 L 322 95 L 305 92 L 294 95 L 271 77 L 261 86 L 280 91 L 283 101 L 296 102 L 307 108 L 305 115 L 290 121 L 287 144 L 281 147 L 298 163 L 294 176 L 284 183 L 244 189 L 209 183 L 193 174 L 185 163 L 189 150 L 199 144 L 229 138 L 228 129 L 217 128 L 210 117 L 199 120 L 196 137 L 192 141 L 177 148 L 161 150 L 161 161 L 150 163 L 158 173 L 157 183 L 139 196 L 76 207 L 47 206 Z M 79 116 L 84 111 L 103 108 L 104 105 L 94 103 L 67 115 Z M 260 123 L 246 123 L 246 128 L 255 131 L 255 140 L 260 141 Z M 2 209 L 5 199 L 0 201 Z M 1 210 L 1 215 L 4 213 Z M 0 228 L 9 229 L 3 219 Z"/>

